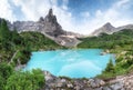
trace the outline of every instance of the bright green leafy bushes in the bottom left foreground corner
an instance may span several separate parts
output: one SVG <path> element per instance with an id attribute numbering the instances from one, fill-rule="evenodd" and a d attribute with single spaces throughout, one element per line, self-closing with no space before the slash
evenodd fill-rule
<path id="1" fill-rule="evenodd" d="M 39 69 L 14 71 L 10 64 L 0 63 L 0 90 L 40 90 L 44 82 L 44 74 Z"/>

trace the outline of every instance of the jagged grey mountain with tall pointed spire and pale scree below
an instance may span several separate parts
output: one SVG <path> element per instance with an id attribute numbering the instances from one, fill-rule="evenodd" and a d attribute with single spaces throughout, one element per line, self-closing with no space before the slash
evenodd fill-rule
<path id="1" fill-rule="evenodd" d="M 57 17 L 53 14 L 52 9 L 49 10 L 49 13 L 45 18 L 41 17 L 38 21 L 14 21 L 13 23 L 8 21 L 8 26 L 10 30 L 16 28 L 18 32 L 41 32 L 45 37 L 54 40 L 57 43 L 65 47 L 75 47 L 80 42 L 78 38 L 82 37 L 79 33 L 64 31 L 58 23 Z"/>

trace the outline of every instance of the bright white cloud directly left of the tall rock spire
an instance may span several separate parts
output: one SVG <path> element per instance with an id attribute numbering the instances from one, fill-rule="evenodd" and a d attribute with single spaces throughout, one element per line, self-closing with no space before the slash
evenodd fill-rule
<path id="1" fill-rule="evenodd" d="M 21 7 L 25 20 L 38 20 L 40 16 L 45 14 L 55 4 L 55 0 L 12 0 L 16 6 Z"/>

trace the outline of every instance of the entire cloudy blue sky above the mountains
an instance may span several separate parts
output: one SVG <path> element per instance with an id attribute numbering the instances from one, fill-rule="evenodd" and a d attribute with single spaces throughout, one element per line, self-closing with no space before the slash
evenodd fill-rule
<path id="1" fill-rule="evenodd" d="M 0 17 L 10 21 L 45 17 L 52 8 L 64 30 L 89 34 L 106 22 L 133 23 L 133 0 L 0 0 Z"/>

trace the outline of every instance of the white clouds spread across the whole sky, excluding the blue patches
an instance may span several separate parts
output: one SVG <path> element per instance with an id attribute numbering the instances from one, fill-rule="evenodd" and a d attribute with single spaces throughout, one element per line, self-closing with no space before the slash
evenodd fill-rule
<path id="1" fill-rule="evenodd" d="M 133 19 L 127 19 L 126 17 L 126 9 L 130 8 L 131 3 L 133 4 L 132 0 L 116 0 L 116 2 L 106 11 L 96 10 L 93 18 L 89 11 L 82 12 L 82 21 L 80 22 L 75 20 L 75 17 L 69 11 L 69 0 L 62 0 L 63 2 L 60 7 L 58 6 L 58 0 L 11 1 L 14 6 L 20 7 L 24 20 L 37 21 L 40 17 L 45 17 L 48 10 L 53 8 L 53 12 L 64 30 L 84 34 L 92 32 L 94 29 L 100 28 L 106 22 L 111 22 L 115 27 L 133 23 Z M 16 20 L 16 14 L 12 12 L 12 8 L 8 0 L 1 0 L 0 17 L 9 20 Z"/>

